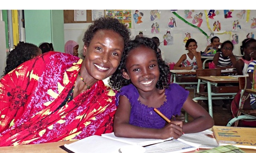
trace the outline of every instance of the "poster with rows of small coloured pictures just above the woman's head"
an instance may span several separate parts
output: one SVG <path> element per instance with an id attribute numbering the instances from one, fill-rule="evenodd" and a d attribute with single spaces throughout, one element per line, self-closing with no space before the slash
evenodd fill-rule
<path id="1" fill-rule="evenodd" d="M 131 28 L 131 10 L 106 10 L 105 17 L 114 17 L 124 23 L 127 28 Z"/>

